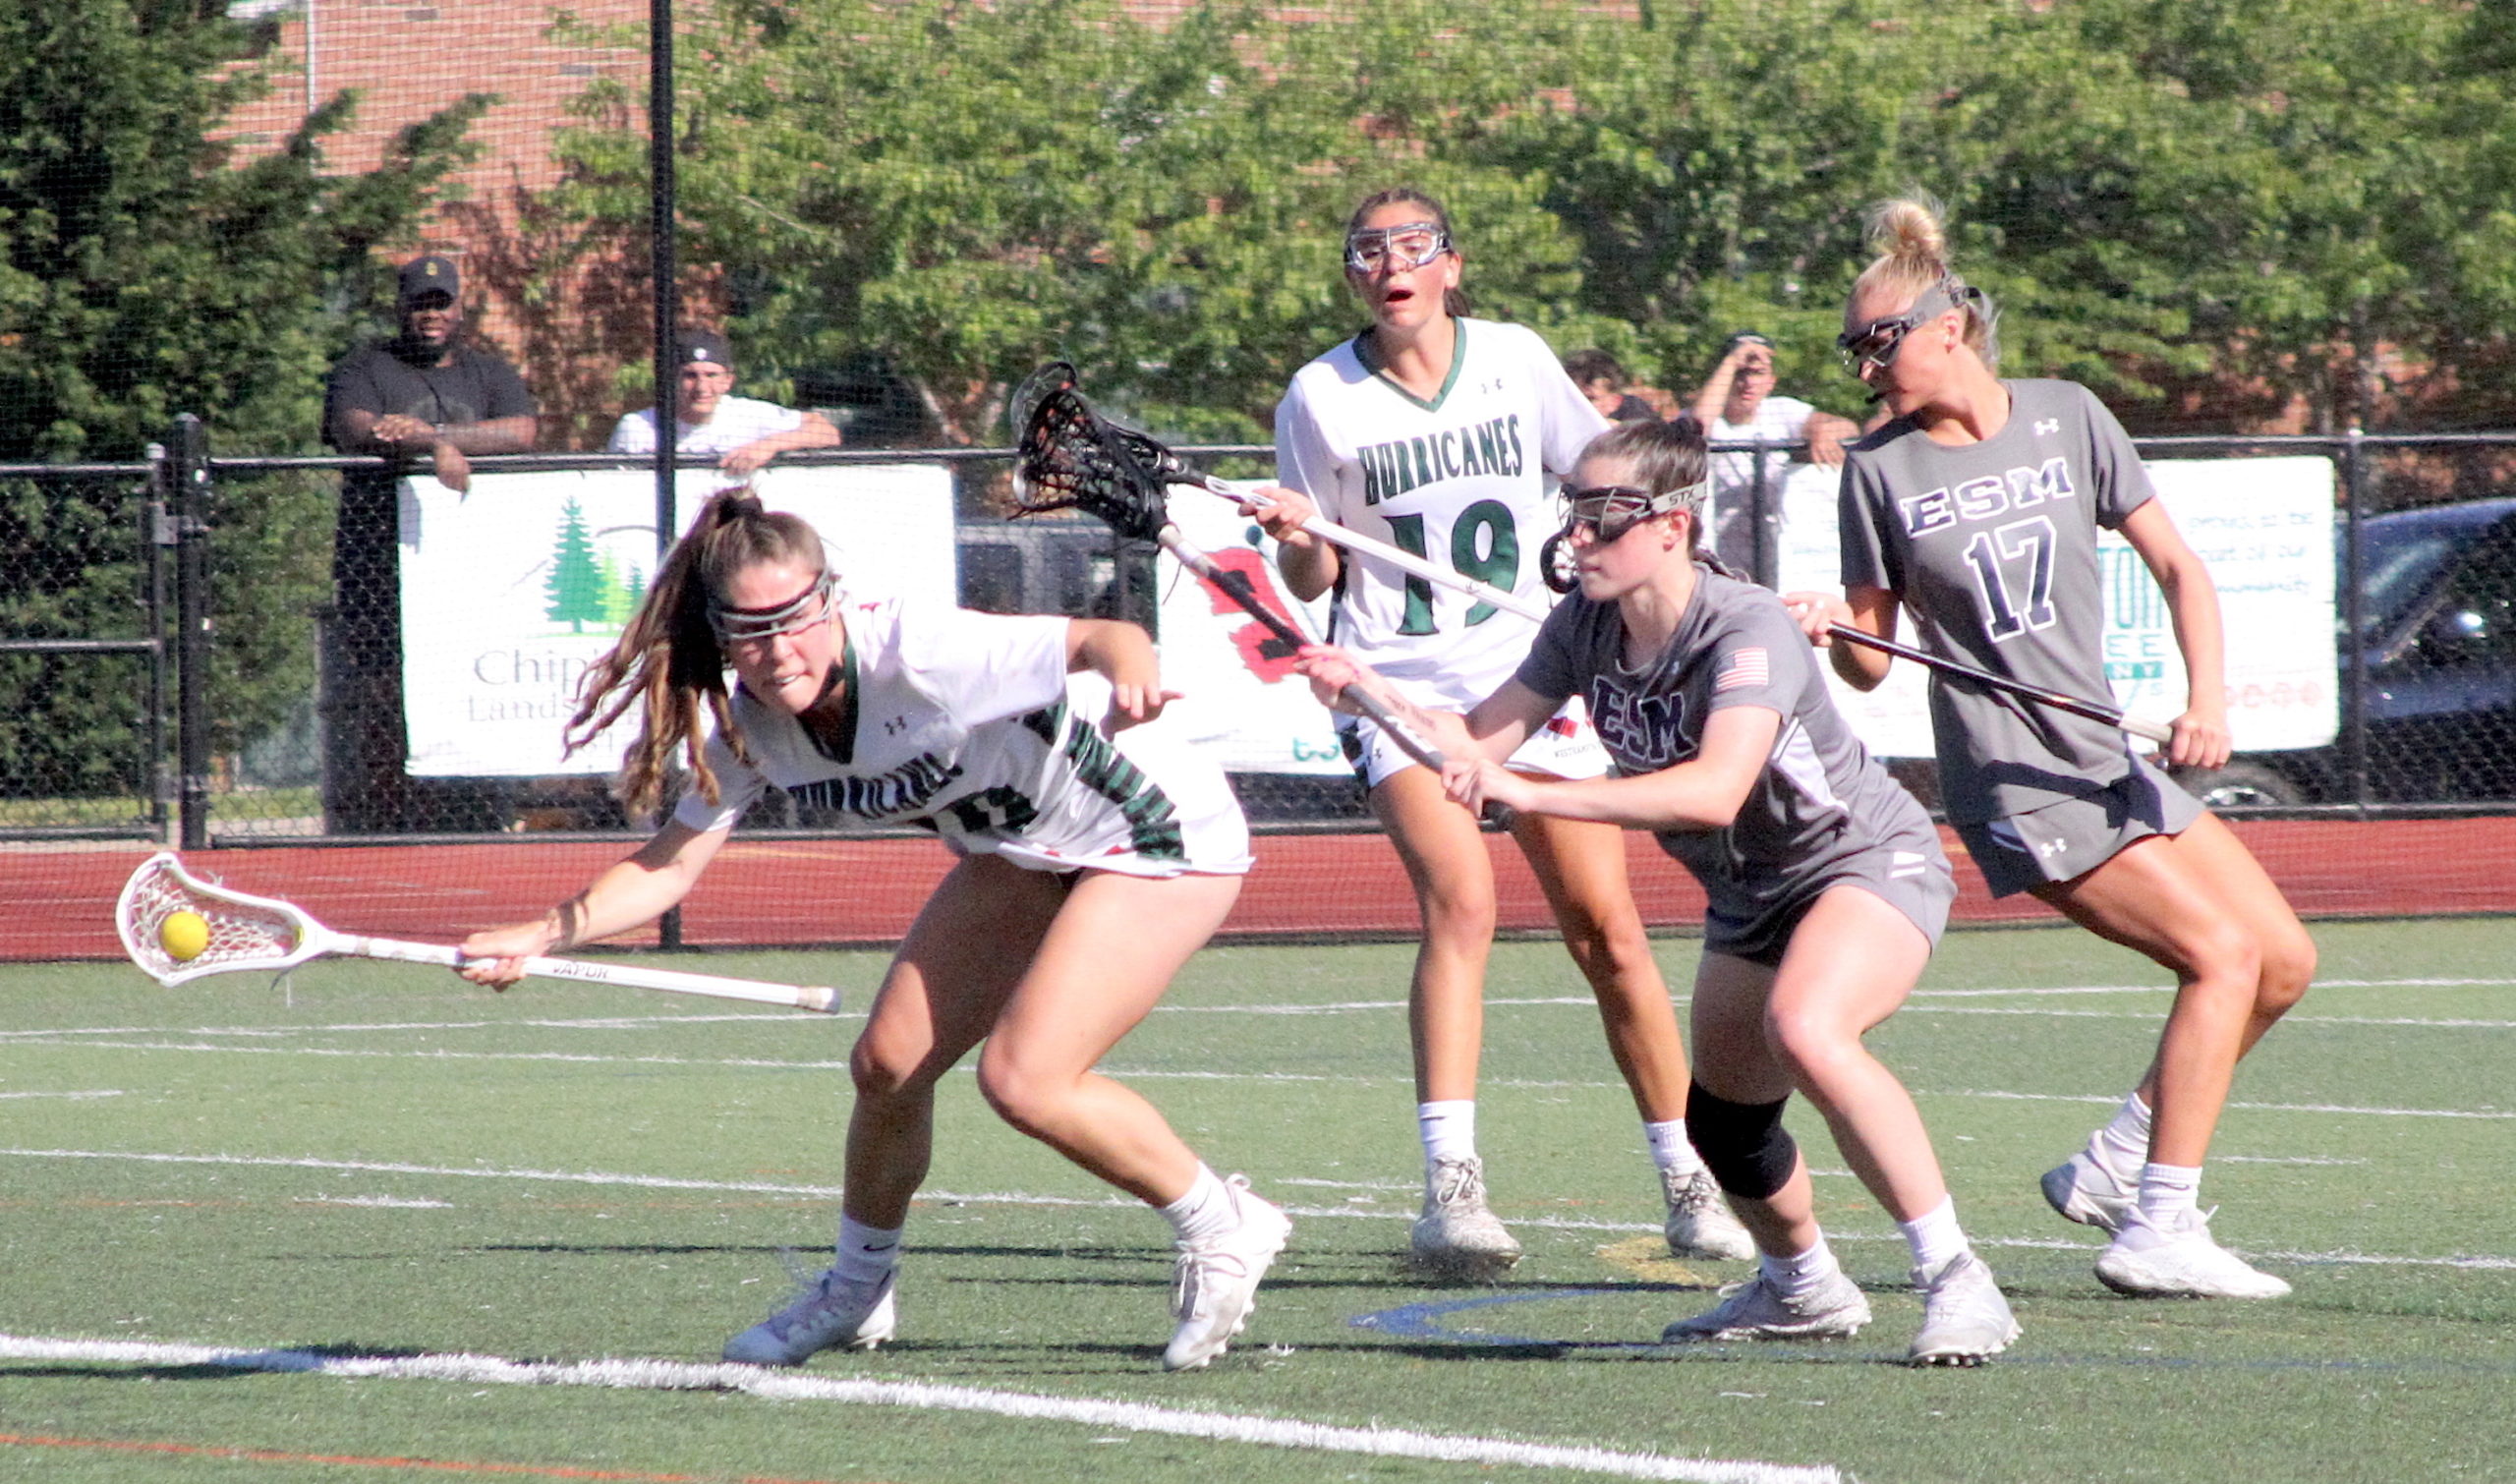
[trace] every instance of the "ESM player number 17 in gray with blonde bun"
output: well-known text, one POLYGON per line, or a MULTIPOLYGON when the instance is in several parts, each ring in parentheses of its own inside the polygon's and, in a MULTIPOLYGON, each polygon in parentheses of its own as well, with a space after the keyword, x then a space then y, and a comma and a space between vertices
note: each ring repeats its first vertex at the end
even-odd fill
MULTIPOLYGON (((1877 262, 1844 307, 1844 357, 1892 420, 1844 463, 1844 594, 1794 594, 1829 626, 1922 644, 1978 669, 2106 694, 2096 528, 2156 576, 2189 699, 2166 762, 2229 755, 2219 596, 2176 533, 2121 425, 2083 387, 2000 380, 1993 309, 1947 262, 1937 211, 1872 211, 1877 262)), ((1834 644, 1869 689, 1890 659, 1834 644)), ((2005 692, 1932 679, 1950 822, 1995 895, 2025 890, 2176 976, 2156 1056, 2086 1149, 2046 1172, 2063 1217, 2111 1232, 2096 1275, 2129 1295, 2277 1298, 2279 1278, 2219 1248, 2199 1207, 2202 1160, 2237 1059, 2307 991, 2315 941, 2237 835, 2124 734, 2005 692)))

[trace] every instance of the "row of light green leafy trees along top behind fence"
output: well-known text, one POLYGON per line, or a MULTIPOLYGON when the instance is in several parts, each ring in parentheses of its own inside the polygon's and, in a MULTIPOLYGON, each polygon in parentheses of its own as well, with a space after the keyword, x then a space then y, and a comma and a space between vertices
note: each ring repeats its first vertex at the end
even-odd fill
MULTIPOLYGON (((1248 433, 1356 324, 1351 201, 1444 194, 1469 289, 1691 390, 1721 337, 1834 370, 1862 209, 1945 204, 2005 367, 2340 425, 2503 420, 2503 0, 730 0, 684 48, 684 259, 755 357, 878 352, 959 438, 1047 357, 1170 430, 1248 433), (843 40, 840 40, 843 38, 843 40), (2390 380, 2388 380, 2390 377, 2390 380)), ((621 93, 571 209, 644 231, 621 93)))

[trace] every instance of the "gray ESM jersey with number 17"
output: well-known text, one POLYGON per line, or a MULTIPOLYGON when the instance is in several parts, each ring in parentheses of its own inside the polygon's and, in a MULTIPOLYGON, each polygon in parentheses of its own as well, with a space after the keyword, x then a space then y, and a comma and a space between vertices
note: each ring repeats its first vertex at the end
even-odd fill
MULTIPOLYGON (((2010 420, 1983 443, 1947 448, 1897 418, 1847 450, 1844 586, 1897 594, 1932 654, 2103 699, 2096 528, 2121 526, 2156 490, 2086 387, 2000 385, 2010 420)), ((2023 815, 2131 772, 2121 729, 1937 672, 1930 729, 1955 822, 2023 815)))

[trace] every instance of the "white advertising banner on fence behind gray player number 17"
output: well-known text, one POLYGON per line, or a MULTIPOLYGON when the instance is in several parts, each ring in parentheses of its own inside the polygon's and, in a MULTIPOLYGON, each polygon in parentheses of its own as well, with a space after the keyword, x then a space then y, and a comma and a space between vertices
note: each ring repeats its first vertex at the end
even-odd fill
MULTIPOLYGON (((2239 752, 2322 747, 2340 724, 2332 634, 2330 458, 2151 460, 2176 531, 2209 566, 2227 626, 2229 729, 2239 752)), ((1834 541, 1839 470, 1799 465, 1784 483, 1781 591, 1842 586, 1834 541)), ((2106 679, 2113 702, 2169 722, 2184 709, 2184 656, 2166 596, 2121 536, 2098 531, 2106 581, 2106 679)), ((1905 626, 1905 636, 1912 629, 1905 626)), ((1872 752, 1930 757, 1925 672, 1895 664, 1834 699, 1872 752)))

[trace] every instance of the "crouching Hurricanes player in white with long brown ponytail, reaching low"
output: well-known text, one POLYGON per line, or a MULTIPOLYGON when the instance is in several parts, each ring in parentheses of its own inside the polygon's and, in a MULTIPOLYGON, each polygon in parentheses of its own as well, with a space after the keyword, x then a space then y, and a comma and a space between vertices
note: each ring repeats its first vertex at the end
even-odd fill
POLYGON ((1170 1220, 1177 1331, 1162 1363, 1205 1366, 1240 1333, 1291 1222, 1094 1071, 1223 923, 1250 865, 1220 770, 1147 724, 1167 699, 1132 624, 850 601, 813 528, 745 490, 715 496, 662 561, 621 644, 589 674, 569 737, 584 745, 637 709, 624 802, 652 810, 677 752, 689 790, 637 855, 566 903, 473 933, 468 978, 513 983, 526 956, 657 918, 770 787, 868 822, 926 825, 961 855, 908 928, 850 1056, 835 1263, 735 1336, 727 1361, 800 1366, 891 1338, 933 1089, 979 1041, 979 1092, 1004 1122, 1170 1220), (715 717, 704 750, 702 709, 715 717))

